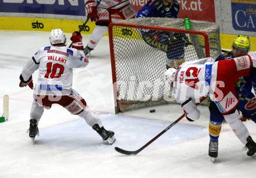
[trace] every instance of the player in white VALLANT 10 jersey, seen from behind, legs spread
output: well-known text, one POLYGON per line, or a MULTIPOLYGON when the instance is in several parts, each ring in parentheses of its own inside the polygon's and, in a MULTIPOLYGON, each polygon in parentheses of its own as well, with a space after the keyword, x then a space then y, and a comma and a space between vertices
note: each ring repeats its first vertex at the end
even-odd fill
POLYGON ((66 47, 66 36, 61 29, 51 31, 51 46, 42 47, 29 59, 20 74, 20 87, 34 90, 34 101, 30 112, 29 137, 34 141, 39 135, 38 122, 44 108, 58 104, 72 115, 85 119, 87 124, 109 144, 113 144, 113 131, 105 130, 101 120, 90 111, 86 101, 72 88, 73 68, 86 67, 88 58, 84 55, 81 34, 75 31, 70 38, 72 48, 66 47), (39 70, 38 80, 33 85, 32 74, 39 70))

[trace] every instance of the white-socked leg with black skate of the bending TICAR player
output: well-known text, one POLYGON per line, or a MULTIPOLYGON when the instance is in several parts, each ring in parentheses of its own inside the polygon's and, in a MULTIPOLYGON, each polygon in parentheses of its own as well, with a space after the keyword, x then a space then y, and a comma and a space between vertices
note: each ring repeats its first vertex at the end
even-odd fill
POLYGON ((234 134, 239 138, 241 143, 248 148, 247 155, 252 156, 256 152, 256 143, 251 138, 246 126, 239 119, 239 112, 237 110, 232 111, 228 115, 224 115, 227 123, 229 123, 234 134))

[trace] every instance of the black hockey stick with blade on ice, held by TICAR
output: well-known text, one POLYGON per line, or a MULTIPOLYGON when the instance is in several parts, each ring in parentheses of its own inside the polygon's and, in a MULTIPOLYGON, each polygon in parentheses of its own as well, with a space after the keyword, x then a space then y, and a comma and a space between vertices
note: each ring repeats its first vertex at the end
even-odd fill
MULTIPOLYGON (((200 102, 197 103, 196 105, 201 104, 202 101, 204 101, 205 97, 200 98, 200 102)), ((146 143, 145 145, 143 145, 143 147, 141 147, 140 149, 137 149, 136 151, 127 151, 125 149, 121 149, 119 147, 115 147, 115 150, 117 152, 120 152, 121 154, 125 154, 125 155, 137 155, 139 152, 141 152, 144 148, 146 148, 148 145, 150 145, 153 141, 157 140, 157 138, 159 138, 160 136, 162 136, 162 134, 164 134, 166 131, 168 131, 170 128, 172 128, 173 126, 175 126, 176 123, 178 123, 180 120, 182 120, 185 116, 185 113, 183 113, 182 116, 179 117, 179 119, 175 120, 175 122, 171 123, 168 127, 165 128, 165 130, 161 131, 161 133, 159 133, 157 136, 155 136, 154 138, 152 138, 150 141, 148 141, 148 143, 146 143)))

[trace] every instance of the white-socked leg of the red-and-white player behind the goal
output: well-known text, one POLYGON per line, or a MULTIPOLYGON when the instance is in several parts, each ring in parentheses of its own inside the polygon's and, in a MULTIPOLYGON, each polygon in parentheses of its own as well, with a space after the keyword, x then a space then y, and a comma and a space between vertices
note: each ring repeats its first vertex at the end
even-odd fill
POLYGON ((108 31, 108 24, 111 22, 111 16, 109 11, 103 8, 98 8, 98 16, 99 19, 96 21, 96 27, 91 33, 91 37, 88 41, 86 48, 84 48, 84 53, 87 55, 92 51, 104 37, 105 33, 108 31))

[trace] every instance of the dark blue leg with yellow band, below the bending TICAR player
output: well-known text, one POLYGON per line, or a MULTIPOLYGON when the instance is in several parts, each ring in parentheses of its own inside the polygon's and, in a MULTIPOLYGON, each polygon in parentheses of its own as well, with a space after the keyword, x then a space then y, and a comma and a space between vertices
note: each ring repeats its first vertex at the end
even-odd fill
POLYGON ((213 158, 218 157, 219 134, 221 133, 221 126, 224 120, 221 112, 214 102, 209 102, 210 120, 209 120, 209 156, 213 158))

